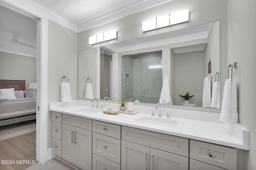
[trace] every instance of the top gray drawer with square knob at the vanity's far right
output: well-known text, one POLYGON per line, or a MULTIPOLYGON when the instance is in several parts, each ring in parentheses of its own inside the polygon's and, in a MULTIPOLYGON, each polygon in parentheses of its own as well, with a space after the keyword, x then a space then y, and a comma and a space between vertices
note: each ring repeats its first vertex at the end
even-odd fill
POLYGON ((236 170, 237 150, 211 143, 190 140, 190 158, 221 168, 236 170))

